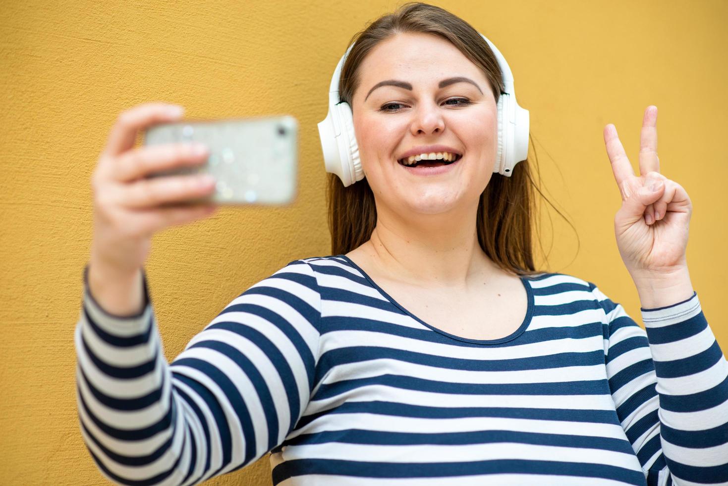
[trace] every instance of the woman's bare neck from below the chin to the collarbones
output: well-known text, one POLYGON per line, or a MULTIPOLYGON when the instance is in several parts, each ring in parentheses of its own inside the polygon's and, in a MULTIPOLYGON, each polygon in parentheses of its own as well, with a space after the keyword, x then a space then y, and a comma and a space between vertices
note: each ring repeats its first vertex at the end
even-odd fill
POLYGON ((496 272, 478 243, 477 211, 476 205, 457 215, 421 214, 413 220, 378 210, 376 227, 363 249, 392 280, 465 287, 470 279, 482 281, 496 272))

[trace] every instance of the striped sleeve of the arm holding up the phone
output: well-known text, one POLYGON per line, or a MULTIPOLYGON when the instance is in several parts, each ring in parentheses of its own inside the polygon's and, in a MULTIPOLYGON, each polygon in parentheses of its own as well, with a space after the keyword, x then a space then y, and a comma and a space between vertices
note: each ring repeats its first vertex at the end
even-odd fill
POLYGON ((308 404, 318 361, 320 291, 290 262, 236 297, 167 363, 149 299, 140 315, 84 296, 76 400, 96 466, 122 485, 194 485, 279 446, 308 404))

